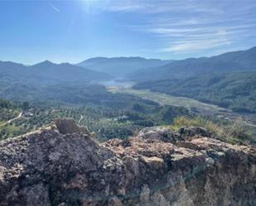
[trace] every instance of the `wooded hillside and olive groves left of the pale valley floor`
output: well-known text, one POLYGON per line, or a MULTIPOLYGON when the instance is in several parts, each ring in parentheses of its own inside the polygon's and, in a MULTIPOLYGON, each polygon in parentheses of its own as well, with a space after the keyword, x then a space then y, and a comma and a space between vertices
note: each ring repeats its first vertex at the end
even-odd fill
MULTIPOLYGON (((34 87, 13 84, 2 90, 0 96, 18 100, 19 103, 16 108, 2 108, 0 104, 0 114, 3 115, 0 117, 0 139, 31 132, 56 117, 75 118, 80 124, 86 124, 90 131, 96 132, 99 139, 106 139, 125 138, 142 127, 169 124, 176 117, 191 116, 186 108, 160 106, 131 94, 111 93, 101 85, 54 84, 34 87), (22 118, 12 124, 7 123, 21 112, 22 118)), ((2 103, 6 102, 13 103, 2 100, 2 103)))

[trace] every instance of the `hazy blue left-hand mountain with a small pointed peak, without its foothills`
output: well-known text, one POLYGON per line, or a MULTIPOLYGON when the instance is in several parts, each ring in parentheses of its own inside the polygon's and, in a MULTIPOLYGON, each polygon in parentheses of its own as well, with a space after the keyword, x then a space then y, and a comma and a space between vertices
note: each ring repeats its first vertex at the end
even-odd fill
POLYGON ((17 82, 31 84, 59 84, 60 82, 85 82, 109 80, 109 74, 85 69, 68 63, 54 64, 48 60, 25 66, 14 62, 0 61, 1 84, 17 82))

